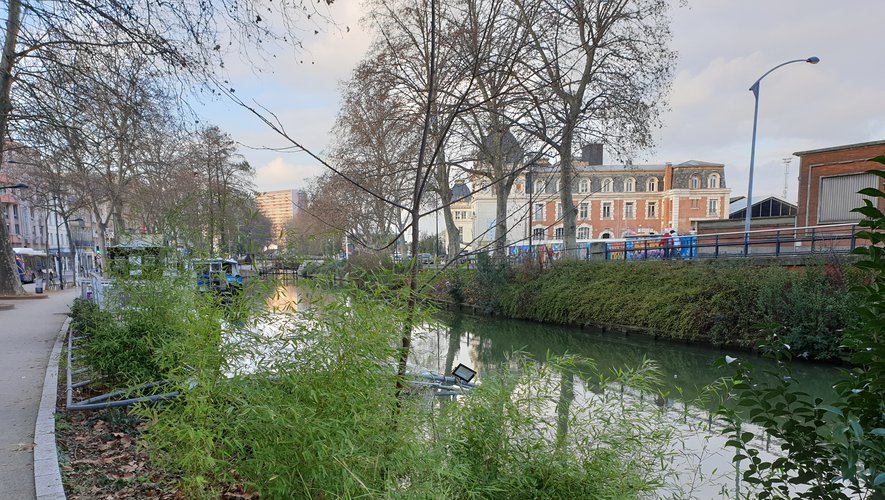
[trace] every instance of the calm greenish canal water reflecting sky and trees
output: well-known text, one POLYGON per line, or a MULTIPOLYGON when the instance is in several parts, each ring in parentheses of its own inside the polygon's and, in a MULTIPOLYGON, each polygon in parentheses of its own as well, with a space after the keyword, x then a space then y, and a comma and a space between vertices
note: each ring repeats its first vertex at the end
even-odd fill
MULTIPOLYGON (((268 305, 295 309, 298 290, 281 287, 268 305)), ((521 352, 540 363, 549 356, 577 355, 595 362, 597 372, 639 367, 643 360, 653 360, 662 381, 659 392, 627 391, 634 400, 647 401, 658 408, 674 429, 670 467, 674 473, 659 493, 679 498, 735 498, 752 495, 741 483, 740 463, 732 462, 734 450, 725 446, 727 437, 722 424, 711 415, 716 403, 699 400, 705 387, 728 373, 713 366, 725 355, 750 363, 757 370, 774 370, 776 363, 748 352, 720 350, 707 346, 655 340, 642 335, 625 335, 594 329, 564 327, 499 317, 472 316, 441 312, 419 329, 413 338, 410 363, 431 372, 450 374, 463 363, 478 372, 477 381, 497 371, 512 368, 510 359, 521 352)), ((820 363, 791 363, 792 377, 798 389, 829 402, 838 369, 820 363)), ((558 383, 568 383, 568 397, 573 407, 587 407, 596 388, 586 386, 578 377, 562 374, 558 383)), ((561 405, 557 405, 559 411, 561 405)), ((588 416, 592 418, 592 416, 588 416)), ((763 458, 778 454, 777 443, 767 439, 760 429, 747 426, 757 434, 750 445, 763 458)))

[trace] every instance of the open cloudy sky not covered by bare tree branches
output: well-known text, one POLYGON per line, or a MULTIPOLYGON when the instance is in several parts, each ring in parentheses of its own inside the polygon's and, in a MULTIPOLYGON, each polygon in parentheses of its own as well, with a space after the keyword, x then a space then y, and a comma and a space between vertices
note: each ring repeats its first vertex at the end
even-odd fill
MULTIPOLYGON (((754 198, 782 194, 783 159, 796 151, 885 140, 885 0, 680 3, 673 0, 671 8, 679 57, 669 111, 656 147, 634 163, 723 163, 732 196, 746 195, 753 123, 748 89, 772 67, 811 56, 820 63, 791 64, 762 81, 754 198)), ((338 0, 330 7, 337 28, 308 32, 304 51, 281 53, 272 71, 256 73, 234 61, 229 76, 237 95, 273 110, 292 137, 322 153, 338 110, 339 82, 368 47, 362 14, 360 2, 338 0)), ((259 191, 300 189, 323 171, 304 154, 260 149, 285 143, 231 103, 208 102, 196 111, 241 144, 259 191)), ((798 165, 792 157, 786 179, 787 199, 794 202, 798 165)))

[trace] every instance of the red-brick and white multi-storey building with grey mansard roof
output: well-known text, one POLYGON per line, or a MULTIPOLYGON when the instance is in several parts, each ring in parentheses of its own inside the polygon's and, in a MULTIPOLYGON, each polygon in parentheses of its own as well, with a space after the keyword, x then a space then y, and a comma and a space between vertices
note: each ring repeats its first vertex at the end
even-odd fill
MULTIPOLYGON (((576 162, 572 190, 577 240, 622 238, 639 234, 697 231, 698 223, 728 217, 730 190, 721 163, 686 161, 676 165, 603 165, 601 150, 585 148, 576 162)), ((478 186, 469 202, 452 209, 462 241, 480 249, 494 239, 495 188, 478 186), (472 238, 468 238, 471 235, 472 238)), ((508 244, 557 244, 563 241, 559 166, 538 162, 518 176, 507 208, 508 244)))

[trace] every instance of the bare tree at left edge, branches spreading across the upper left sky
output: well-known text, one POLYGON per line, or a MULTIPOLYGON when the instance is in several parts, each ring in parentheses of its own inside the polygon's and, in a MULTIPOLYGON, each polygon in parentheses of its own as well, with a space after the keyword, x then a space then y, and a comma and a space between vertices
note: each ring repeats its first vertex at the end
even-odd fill
MULTIPOLYGON (((230 89, 216 73, 224 57, 276 42, 298 46, 298 24, 311 15, 306 22, 324 22, 325 13, 317 11, 324 5, 262 0, 34 0, 23 6, 21 0, 7 0, 0 55, 0 139, 6 139, 13 118, 13 82, 15 88, 44 83, 41 72, 29 70, 28 61, 54 66, 58 62, 50 53, 115 48, 147 57, 181 88, 226 94, 230 89)), ((2 154, 0 150, 0 164, 2 154)), ((0 214, 0 293, 23 293, 7 233, 0 214)))

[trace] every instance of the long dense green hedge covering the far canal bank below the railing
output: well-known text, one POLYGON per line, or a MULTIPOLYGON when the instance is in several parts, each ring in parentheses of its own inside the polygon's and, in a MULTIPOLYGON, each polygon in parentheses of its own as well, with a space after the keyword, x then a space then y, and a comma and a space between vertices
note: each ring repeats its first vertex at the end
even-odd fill
POLYGON ((799 269, 746 262, 557 262, 550 269, 480 261, 440 277, 441 297, 511 318, 649 328, 678 340, 757 348, 779 331, 794 353, 839 355, 862 275, 835 259, 799 269), (762 326, 765 328, 762 328, 762 326))

